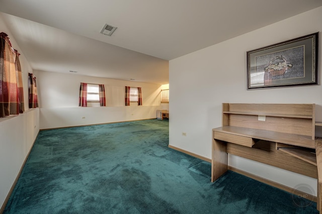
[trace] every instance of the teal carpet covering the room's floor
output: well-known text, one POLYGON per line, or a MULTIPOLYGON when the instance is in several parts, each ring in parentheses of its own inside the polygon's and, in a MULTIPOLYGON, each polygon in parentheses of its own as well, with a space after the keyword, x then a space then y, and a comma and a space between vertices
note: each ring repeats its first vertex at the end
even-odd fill
POLYGON ((159 120, 40 131, 4 213, 318 213, 168 144, 159 120))

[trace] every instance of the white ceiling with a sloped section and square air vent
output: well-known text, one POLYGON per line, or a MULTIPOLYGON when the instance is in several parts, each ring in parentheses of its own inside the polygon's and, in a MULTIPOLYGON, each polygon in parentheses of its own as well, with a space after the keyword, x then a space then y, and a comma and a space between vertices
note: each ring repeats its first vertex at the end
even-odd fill
POLYGON ((169 60, 321 6, 322 0, 0 0, 0 18, 34 70, 166 84, 169 60), (105 24, 117 27, 112 36, 100 33, 105 24))

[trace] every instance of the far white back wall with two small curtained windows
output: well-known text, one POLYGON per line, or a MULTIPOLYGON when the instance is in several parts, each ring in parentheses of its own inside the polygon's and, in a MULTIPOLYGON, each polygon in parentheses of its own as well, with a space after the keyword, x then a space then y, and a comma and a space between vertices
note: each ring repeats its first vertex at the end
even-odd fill
POLYGON ((74 73, 34 71, 40 106, 40 129, 156 118, 162 85, 90 77, 74 73), (104 84, 106 105, 78 107, 81 82, 104 84), (124 104, 125 86, 142 88, 142 105, 124 104))

